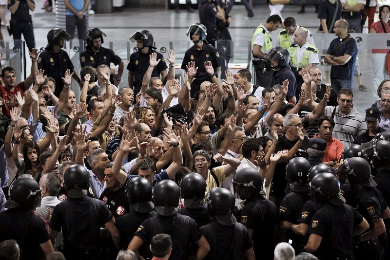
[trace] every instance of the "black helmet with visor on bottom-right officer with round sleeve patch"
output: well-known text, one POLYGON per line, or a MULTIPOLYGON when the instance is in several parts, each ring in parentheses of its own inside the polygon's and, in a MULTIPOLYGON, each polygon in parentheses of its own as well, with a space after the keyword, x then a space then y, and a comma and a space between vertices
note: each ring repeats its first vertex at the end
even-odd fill
POLYGON ((370 164, 364 158, 352 157, 345 159, 337 170, 347 173, 348 181, 352 186, 359 183, 368 187, 376 186, 372 179, 370 164))

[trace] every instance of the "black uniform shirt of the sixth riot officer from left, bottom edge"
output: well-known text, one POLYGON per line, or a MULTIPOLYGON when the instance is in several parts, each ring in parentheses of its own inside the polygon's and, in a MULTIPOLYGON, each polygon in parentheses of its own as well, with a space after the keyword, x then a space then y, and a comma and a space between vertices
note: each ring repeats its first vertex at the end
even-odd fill
POLYGON ((210 252, 206 260, 236 260, 242 259, 246 250, 253 247, 247 228, 241 223, 226 226, 215 219, 200 228, 210 244, 210 252))

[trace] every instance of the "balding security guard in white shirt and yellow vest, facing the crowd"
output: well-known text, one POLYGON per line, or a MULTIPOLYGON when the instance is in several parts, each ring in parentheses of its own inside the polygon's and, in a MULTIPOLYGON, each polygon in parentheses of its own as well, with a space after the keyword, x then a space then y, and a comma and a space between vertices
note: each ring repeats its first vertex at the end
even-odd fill
POLYGON ((294 44, 288 48, 291 70, 296 79, 295 97, 297 99, 304 83, 299 71, 302 68, 309 69, 319 63, 318 49, 307 42, 307 37, 308 32, 305 29, 297 28, 293 36, 294 44))

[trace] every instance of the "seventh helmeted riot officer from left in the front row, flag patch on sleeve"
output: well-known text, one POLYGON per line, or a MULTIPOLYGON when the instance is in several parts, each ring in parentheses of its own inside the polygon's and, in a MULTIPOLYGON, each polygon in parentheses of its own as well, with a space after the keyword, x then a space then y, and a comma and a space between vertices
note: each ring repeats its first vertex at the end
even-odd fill
POLYGON ((234 174, 234 196, 245 200, 240 222, 248 228, 252 237, 254 255, 256 259, 272 259, 277 208, 273 202, 260 195, 262 186, 263 179, 254 168, 243 168, 234 174))

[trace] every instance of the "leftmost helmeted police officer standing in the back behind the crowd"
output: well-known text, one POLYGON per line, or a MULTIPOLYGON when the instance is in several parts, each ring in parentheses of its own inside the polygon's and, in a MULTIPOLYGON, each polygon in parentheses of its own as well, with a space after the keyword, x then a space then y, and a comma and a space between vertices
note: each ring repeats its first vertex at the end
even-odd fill
POLYGON ((70 35, 64 29, 51 29, 47 34, 46 49, 38 58, 38 69, 44 70, 45 75, 56 80, 56 90, 54 91, 56 96, 59 96, 64 87, 62 77, 66 70, 73 72, 73 78, 77 80, 78 84, 81 82, 78 74, 74 71, 73 63, 68 54, 61 49, 64 42, 69 39, 70 35))

